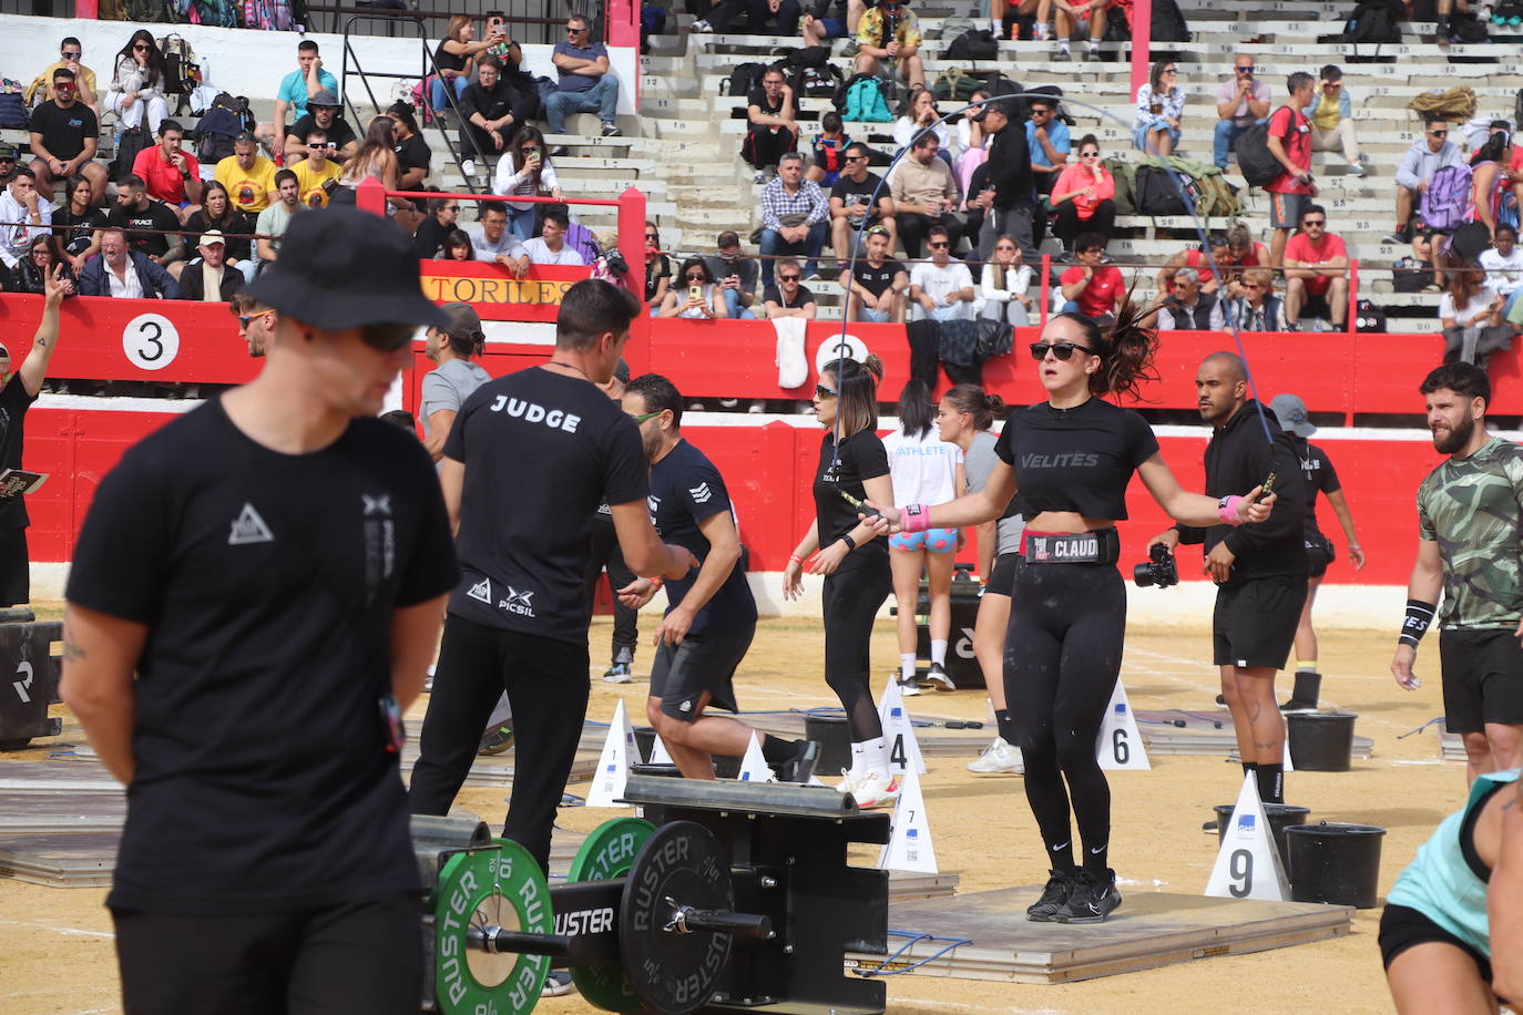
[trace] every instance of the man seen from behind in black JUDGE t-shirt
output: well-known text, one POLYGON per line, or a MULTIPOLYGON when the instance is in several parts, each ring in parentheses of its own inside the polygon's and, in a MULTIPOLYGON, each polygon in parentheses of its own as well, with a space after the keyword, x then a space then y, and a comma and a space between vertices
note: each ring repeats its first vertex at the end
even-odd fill
POLYGON ((582 574, 592 513, 612 505, 635 574, 679 578, 694 563, 650 528, 640 431, 597 388, 638 313, 634 297, 606 282, 571 286, 550 362, 477 388, 439 470, 465 577, 449 598, 410 802, 414 814, 449 811, 492 705, 507 691, 525 764, 513 776, 503 835, 542 867, 586 718, 582 574))

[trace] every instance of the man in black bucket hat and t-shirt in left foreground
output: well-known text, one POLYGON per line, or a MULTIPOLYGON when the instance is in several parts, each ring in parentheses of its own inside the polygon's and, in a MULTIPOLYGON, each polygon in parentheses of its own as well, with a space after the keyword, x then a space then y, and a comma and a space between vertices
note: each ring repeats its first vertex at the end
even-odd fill
POLYGON ((445 315, 353 208, 294 221, 248 297, 259 376, 128 449, 65 593, 61 692, 129 785, 123 1007, 411 1015, 401 714, 458 568, 428 455, 373 417, 445 315))

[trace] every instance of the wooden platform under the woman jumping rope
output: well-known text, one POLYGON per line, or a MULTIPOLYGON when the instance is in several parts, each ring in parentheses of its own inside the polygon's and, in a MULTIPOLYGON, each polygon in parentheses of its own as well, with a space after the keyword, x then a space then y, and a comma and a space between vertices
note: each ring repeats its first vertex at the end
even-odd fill
MULTIPOLYGON (((1193 959, 1323 940, 1349 933, 1354 916, 1348 905, 1122 890, 1121 908, 1104 924, 1066 927, 1027 919, 1025 907, 1040 893, 1040 886, 1031 886, 892 902, 888 925, 940 937, 972 939, 970 943, 909 971, 912 975, 1068 983, 1193 959)), ((903 939, 897 940, 903 943, 903 939)), ((917 942, 886 968, 906 969, 947 943, 917 942)), ((889 937, 889 951, 897 947, 896 937, 889 937)), ((847 956, 847 966, 856 969, 871 969, 882 962, 877 956, 847 956)))

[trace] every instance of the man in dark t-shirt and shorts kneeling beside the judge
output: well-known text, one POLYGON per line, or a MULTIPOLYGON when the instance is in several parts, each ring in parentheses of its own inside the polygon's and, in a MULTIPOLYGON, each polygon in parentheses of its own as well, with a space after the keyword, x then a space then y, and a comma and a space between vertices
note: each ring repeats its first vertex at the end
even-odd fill
MULTIPOLYGON (((650 522, 661 539, 685 546, 699 562, 696 574, 666 584, 669 606, 656 628, 646 715, 688 779, 713 779, 713 755, 739 758, 755 735, 784 782, 806 782, 818 744, 769 737, 705 712, 710 703, 736 711, 731 679, 757 630, 740 530, 719 470, 682 440, 676 387, 659 374, 635 377, 623 405, 650 458, 650 522)), ((620 589, 620 598, 640 607, 658 587, 659 581, 640 578, 620 589)))

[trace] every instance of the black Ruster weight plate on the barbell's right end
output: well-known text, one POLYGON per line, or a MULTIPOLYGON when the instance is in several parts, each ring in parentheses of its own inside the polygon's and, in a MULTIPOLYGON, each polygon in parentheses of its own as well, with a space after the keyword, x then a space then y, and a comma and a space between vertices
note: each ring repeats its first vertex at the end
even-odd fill
POLYGON ((714 834, 694 822, 663 825, 646 842, 624 883, 618 945, 624 974, 652 1012, 687 1015, 702 1007, 730 965, 728 933, 667 930, 672 902, 734 912, 730 858, 714 834))

